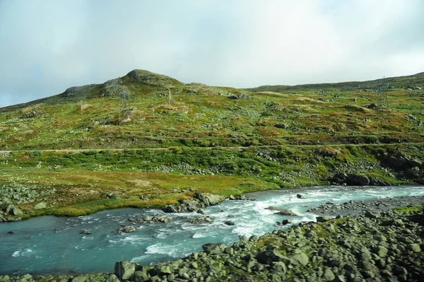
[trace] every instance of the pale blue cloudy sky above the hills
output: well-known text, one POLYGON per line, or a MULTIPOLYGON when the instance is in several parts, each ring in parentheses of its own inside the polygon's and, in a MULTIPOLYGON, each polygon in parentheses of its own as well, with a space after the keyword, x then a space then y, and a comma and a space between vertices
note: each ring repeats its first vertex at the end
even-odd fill
POLYGON ((0 107, 147 69, 249 88, 424 71, 423 0, 0 0, 0 107))

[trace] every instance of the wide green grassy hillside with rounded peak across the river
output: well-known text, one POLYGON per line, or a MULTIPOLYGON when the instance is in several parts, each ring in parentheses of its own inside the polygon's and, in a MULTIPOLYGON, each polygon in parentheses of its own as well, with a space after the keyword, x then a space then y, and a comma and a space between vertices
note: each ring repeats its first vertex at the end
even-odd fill
MULTIPOLYGON (((53 207, 33 214, 76 215, 173 203, 192 192, 172 187, 194 187, 194 182, 201 191, 226 196, 276 185, 328 184, 336 172, 411 183, 415 180, 408 175, 382 168, 381 155, 399 151, 424 157, 424 127, 417 126, 424 122, 424 90, 404 89, 422 81, 422 74, 387 79, 396 87, 387 91, 387 110, 366 107, 379 101, 377 93, 361 92, 377 85, 372 81, 361 88, 339 83, 251 93, 140 75, 124 76, 117 86, 67 90, 0 109, 0 149, 35 150, 1 154, 0 182, 33 183, 37 189, 48 183, 58 191, 46 199, 53 207), (172 102, 168 86, 173 86, 172 102), (121 89, 131 94, 126 107, 117 95, 121 89), (232 99, 240 94, 250 98, 232 99), (174 148, 151 150, 169 147, 174 148), (127 150, 38 151, 79 148, 127 150), (122 199, 102 199, 111 191, 122 199)), ((42 201, 36 200, 20 208, 31 213, 42 201)))

